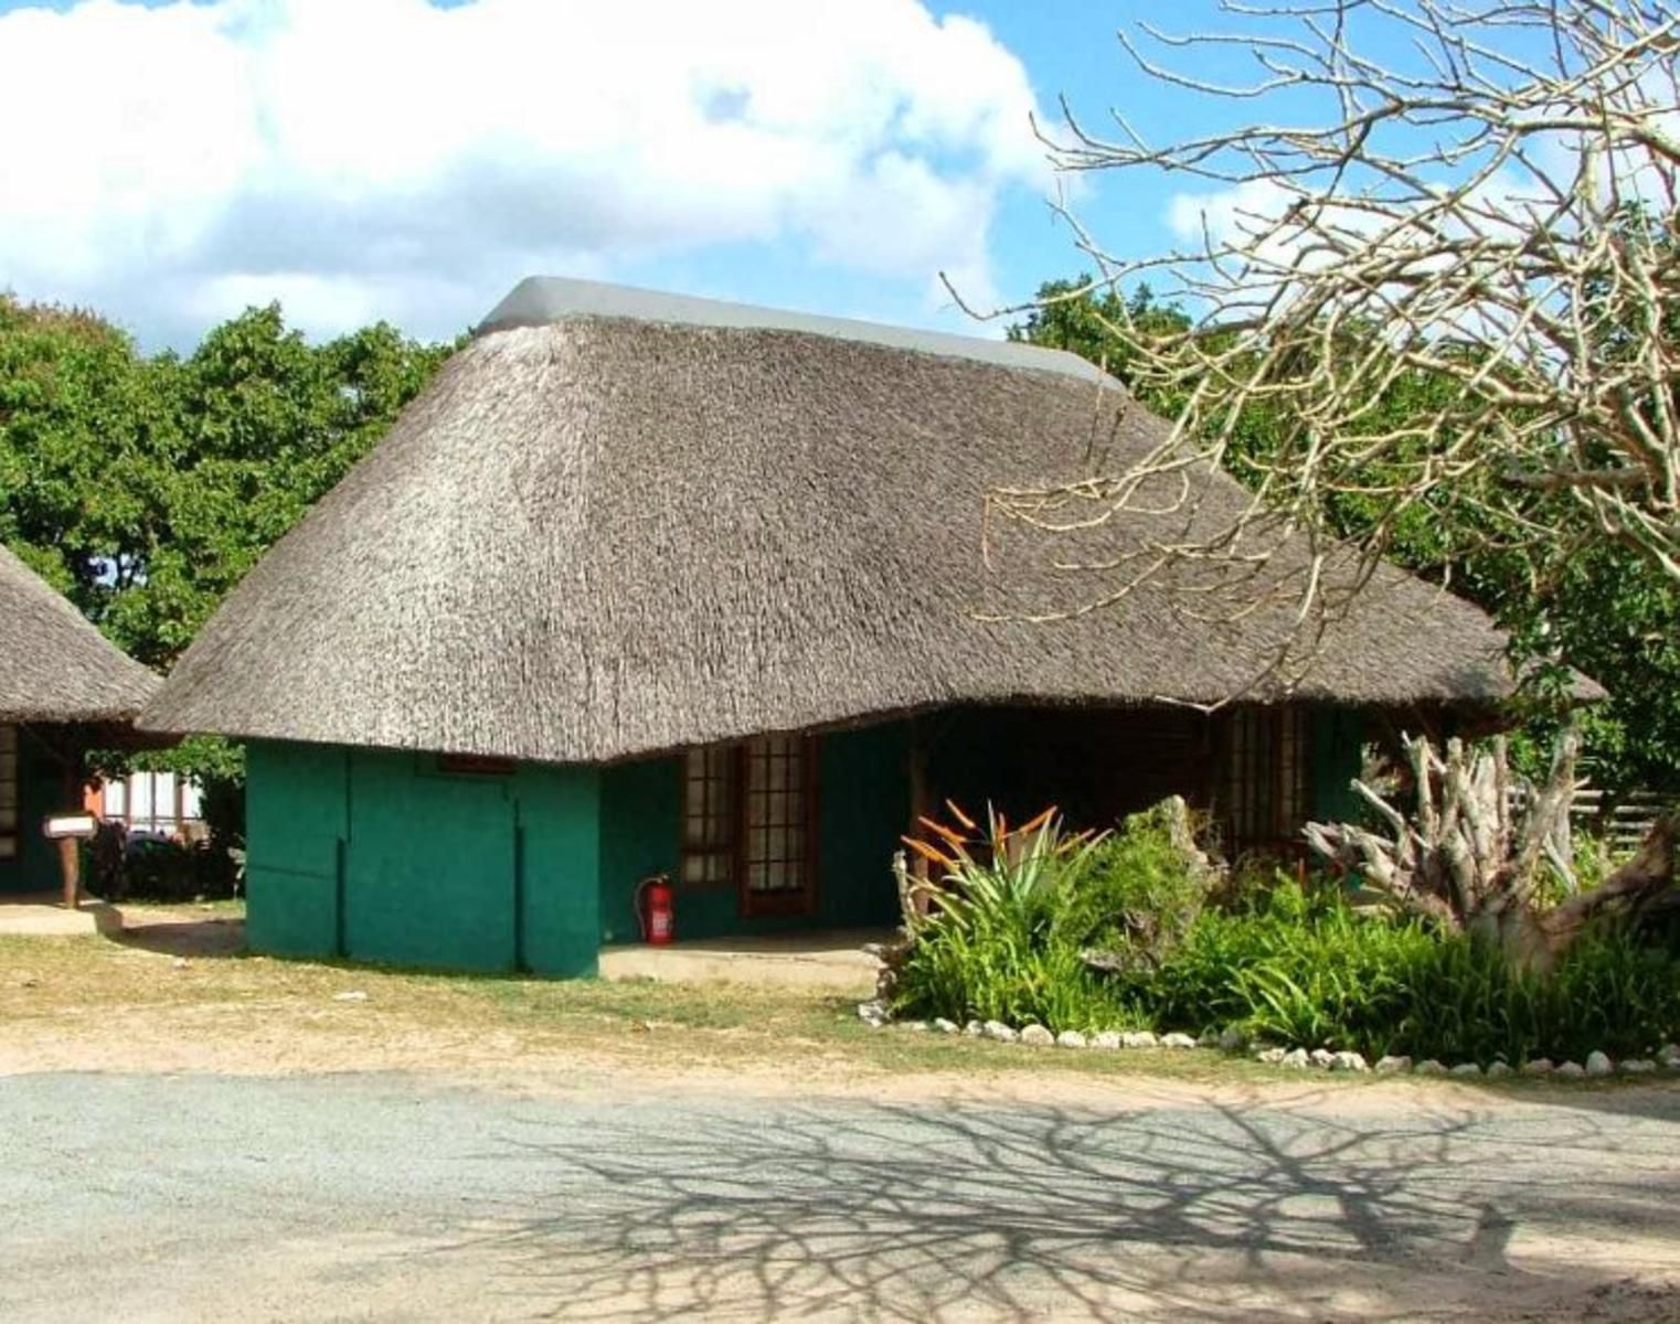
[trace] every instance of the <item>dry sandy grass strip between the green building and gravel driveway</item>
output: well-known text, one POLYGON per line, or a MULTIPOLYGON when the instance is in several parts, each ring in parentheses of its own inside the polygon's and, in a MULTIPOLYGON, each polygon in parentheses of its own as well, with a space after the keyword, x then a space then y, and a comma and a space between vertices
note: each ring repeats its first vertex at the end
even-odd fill
POLYGON ((1315 1090, 1369 1082, 1205 1050, 1080 1052, 870 1030, 852 1000, 805 990, 282 961, 232 949, 237 911, 227 906, 124 912, 133 927, 121 941, 0 938, 0 1074, 418 1070, 564 1087, 633 1072, 788 1092, 1015 1080, 1035 1094, 1100 1090, 1122 1077, 1315 1090))

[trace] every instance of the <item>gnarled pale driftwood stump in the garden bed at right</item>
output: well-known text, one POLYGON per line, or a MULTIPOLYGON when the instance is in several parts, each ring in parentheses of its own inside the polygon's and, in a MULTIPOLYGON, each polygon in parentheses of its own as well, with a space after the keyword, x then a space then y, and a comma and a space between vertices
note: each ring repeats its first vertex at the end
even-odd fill
POLYGON ((1606 909, 1662 904, 1675 882, 1680 815, 1655 823, 1638 854, 1599 887, 1578 887, 1569 850, 1569 801, 1579 738, 1564 733, 1537 788, 1514 785, 1504 739, 1487 749, 1448 741, 1445 758, 1426 739, 1403 741, 1416 810, 1408 817, 1364 781, 1352 788, 1389 835, 1352 823, 1309 823, 1307 843, 1369 892, 1455 931, 1482 933, 1524 964, 1546 966, 1606 909), (1569 896, 1541 907, 1547 879, 1569 896))

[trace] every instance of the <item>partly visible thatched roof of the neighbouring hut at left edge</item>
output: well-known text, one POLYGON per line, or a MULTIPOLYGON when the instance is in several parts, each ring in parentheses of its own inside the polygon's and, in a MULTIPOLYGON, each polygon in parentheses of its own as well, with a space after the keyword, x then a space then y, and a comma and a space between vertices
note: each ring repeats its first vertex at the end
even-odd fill
POLYGON ((158 677, 0 546, 0 722, 124 722, 158 677))

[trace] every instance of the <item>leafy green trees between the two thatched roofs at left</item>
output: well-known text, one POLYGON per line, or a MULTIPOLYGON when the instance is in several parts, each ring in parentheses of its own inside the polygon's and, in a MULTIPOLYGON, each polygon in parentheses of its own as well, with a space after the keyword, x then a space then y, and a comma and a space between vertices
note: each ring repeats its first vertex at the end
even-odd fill
MULTIPOLYGON (((452 349, 383 323, 311 344, 270 304, 148 358, 92 313, 0 294, 0 541, 165 669, 452 349)), ((242 837, 237 744, 94 766, 193 773, 215 840, 242 837)))

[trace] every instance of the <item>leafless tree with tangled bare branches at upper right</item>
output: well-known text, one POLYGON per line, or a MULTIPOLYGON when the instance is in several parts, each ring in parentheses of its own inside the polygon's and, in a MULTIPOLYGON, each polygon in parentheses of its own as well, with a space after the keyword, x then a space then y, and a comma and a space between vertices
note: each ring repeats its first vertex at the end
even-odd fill
POLYGON ((1142 25, 1121 42, 1156 82, 1304 119, 1158 146, 1121 113, 1099 134, 1063 108, 1065 131, 1047 133, 1062 171, 1164 171, 1211 190, 1196 242, 1144 257, 1110 252, 1062 208, 1099 272, 1063 297, 1147 279, 1189 314, 1163 333, 1127 304, 1112 324, 1139 393, 1176 407, 1171 437, 1124 469, 1000 489, 988 518, 1089 529, 1176 492, 1184 536, 1110 565, 1104 602, 1194 563, 1294 595, 1304 623, 1336 610, 1332 585, 1364 583, 1327 573, 1347 551, 1319 536, 1337 496, 1376 511, 1362 561, 1410 509, 1450 496, 1477 538, 1539 561, 1614 539, 1680 581, 1680 12, 1641 0, 1221 10, 1257 30, 1142 25), (1378 45, 1393 54, 1376 59, 1378 45), (1253 52, 1252 82, 1183 72, 1231 47, 1253 52), (1435 383, 1428 407, 1383 410, 1408 376, 1435 383), (1255 412, 1268 445, 1236 457, 1255 412), (1231 467, 1250 479, 1247 511, 1189 518, 1206 475, 1231 467), (1292 570, 1260 573, 1290 539, 1292 570))

